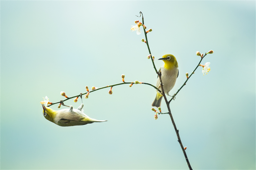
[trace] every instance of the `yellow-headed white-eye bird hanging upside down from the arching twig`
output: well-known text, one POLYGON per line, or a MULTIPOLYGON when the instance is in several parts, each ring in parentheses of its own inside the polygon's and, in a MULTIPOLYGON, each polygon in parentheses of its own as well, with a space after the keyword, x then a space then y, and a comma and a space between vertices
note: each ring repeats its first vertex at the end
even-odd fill
POLYGON ((69 109, 52 110, 50 107, 43 106, 43 115, 45 119, 59 126, 78 126, 93 122, 106 122, 92 119, 84 114, 84 104, 82 103, 77 109, 70 106, 69 109))

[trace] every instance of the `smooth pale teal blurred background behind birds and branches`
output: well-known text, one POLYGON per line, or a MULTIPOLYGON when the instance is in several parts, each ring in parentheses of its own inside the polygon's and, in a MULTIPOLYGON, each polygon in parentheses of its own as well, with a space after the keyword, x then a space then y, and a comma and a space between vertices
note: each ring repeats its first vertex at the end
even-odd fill
POLYGON ((1 1, 0 169, 188 169, 169 115, 154 120, 151 86, 83 98, 85 114, 108 122, 60 127, 42 114, 42 97, 64 100, 60 91, 78 95, 121 74, 156 84, 144 34, 130 30, 140 11, 152 55, 179 63, 170 94, 196 51, 214 50, 202 62, 209 74, 196 70, 171 102, 192 168, 256 168, 255 1, 1 1))

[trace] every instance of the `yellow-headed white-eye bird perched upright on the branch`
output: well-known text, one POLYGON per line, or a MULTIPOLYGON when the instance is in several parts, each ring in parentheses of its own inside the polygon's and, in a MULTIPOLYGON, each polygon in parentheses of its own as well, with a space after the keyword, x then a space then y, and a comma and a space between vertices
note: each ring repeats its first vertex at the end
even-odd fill
MULTIPOLYGON (((168 96, 170 90, 172 90, 173 86, 175 85, 176 79, 179 76, 179 69, 178 69, 178 62, 176 58, 171 54, 166 54, 162 58, 159 58, 158 60, 163 60, 164 65, 160 68, 162 72, 162 81, 164 85, 164 93, 166 93, 168 96)), ((159 87, 160 85, 160 79, 157 76, 157 82, 156 87, 159 87)), ((160 87, 159 90, 162 91, 162 88, 160 87)), ((161 105, 163 95, 157 91, 156 93, 156 99, 153 101, 152 106, 159 107, 161 105)), ((174 98, 174 96, 171 96, 174 98)))

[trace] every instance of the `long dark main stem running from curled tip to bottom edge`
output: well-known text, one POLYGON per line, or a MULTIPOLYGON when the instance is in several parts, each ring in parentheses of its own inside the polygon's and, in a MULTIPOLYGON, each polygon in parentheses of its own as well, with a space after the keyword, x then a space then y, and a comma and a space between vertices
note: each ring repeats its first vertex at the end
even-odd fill
MULTIPOLYGON (((141 15, 142 15, 142 24, 144 25, 143 14, 142 14, 142 12, 140 12, 140 13, 141 13, 141 15)), ((180 147, 181 147, 181 149, 182 149, 182 151, 183 151, 183 154, 184 154, 185 159, 186 159, 186 161, 187 161, 188 167, 189 167, 190 170, 192 170, 192 167, 191 167, 191 165, 190 165, 190 163, 189 163, 189 161, 188 161, 188 156, 187 156, 186 151, 185 151, 185 149, 184 149, 184 147, 183 147, 183 144, 182 144, 182 142, 181 142, 181 140, 180 140, 179 130, 177 129, 176 124, 175 124, 175 122, 174 122, 174 119, 173 119, 173 117, 172 117, 172 113, 171 113, 171 109, 170 109, 170 102, 167 100, 167 98, 166 98, 166 96, 165 96, 165 94, 164 94, 164 87, 163 87, 164 85, 163 85, 163 81, 162 81, 161 70, 160 70, 159 72, 157 72, 157 70, 156 70, 156 66, 155 66, 155 63, 154 63, 154 61, 153 61, 153 58, 152 58, 152 55, 151 55, 151 52, 150 52, 150 49, 149 49, 149 45, 148 45, 147 33, 146 33, 146 30, 144 29, 144 27, 143 27, 143 30, 144 30, 144 34, 145 34, 145 38, 146 38, 146 43, 147 43, 147 46, 148 46, 148 52, 149 52, 150 57, 151 57, 151 61, 152 61, 152 63, 153 63, 153 66, 154 66, 154 69, 155 69, 155 71, 156 71, 156 74, 158 75, 158 77, 159 77, 159 79, 160 79, 160 85, 161 85, 161 89, 162 89, 162 95, 163 95, 163 97, 164 97, 166 106, 167 106, 167 108, 168 108, 168 114, 169 114, 170 117, 171 117, 172 125, 173 125, 173 127, 174 127, 174 129, 175 129, 176 135, 177 135, 177 137, 178 137, 178 142, 180 143, 180 147)))

